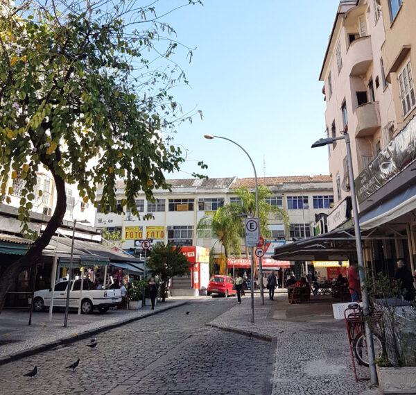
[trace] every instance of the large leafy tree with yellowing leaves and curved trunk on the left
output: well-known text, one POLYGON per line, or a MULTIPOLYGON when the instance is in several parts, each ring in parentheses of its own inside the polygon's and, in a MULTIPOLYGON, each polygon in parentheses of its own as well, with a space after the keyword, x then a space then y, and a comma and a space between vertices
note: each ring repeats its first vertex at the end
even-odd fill
POLYGON ((0 2, 0 197, 10 203, 10 179, 23 181, 19 220, 26 235, 42 167, 53 176, 57 203, 42 235, 32 235, 28 253, 1 276, 0 311, 12 281, 40 261, 62 223, 67 183, 95 205, 103 184, 101 211, 116 212, 115 183, 122 180, 122 205, 139 217, 135 194, 143 190, 152 201, 153 189, 168 189, 164 173, 184 161, 180 149, 165 146, 161 131, 174 131, 183 119, 170 90, 187 80, 171 60, 175 31, 153 6, 139 0, 12 3, 0 2))

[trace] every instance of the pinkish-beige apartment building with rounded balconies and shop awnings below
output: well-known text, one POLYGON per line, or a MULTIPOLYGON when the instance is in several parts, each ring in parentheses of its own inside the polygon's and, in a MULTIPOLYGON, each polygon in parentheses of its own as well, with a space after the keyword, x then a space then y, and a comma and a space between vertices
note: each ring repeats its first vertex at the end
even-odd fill
MULTIPOLYGON (((327 135, 349 133, 355 178, 348 174, 345 142, 333 142, 336 208, 329 219, 354 182, 365 261, 390 276, 399 257, 415 269, 415 18, 415 1, 340 1, 319 78, 327 135)), ((350 224, 350 215, 347 210, 338 226, 350 224)))

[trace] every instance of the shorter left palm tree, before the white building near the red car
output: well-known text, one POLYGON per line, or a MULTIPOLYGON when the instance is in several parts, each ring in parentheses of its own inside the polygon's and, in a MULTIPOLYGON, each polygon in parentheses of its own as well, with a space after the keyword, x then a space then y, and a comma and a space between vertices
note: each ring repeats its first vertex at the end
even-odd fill
MULTIPOLYGON (((216 238, 223 244, 226 262, 229 253, 241 256, 240 239, 243 234, 243 226, 237 215, 241 213, 241 206, 230 203, 218 208, 214 215, 205 215, 198 222, 197 229, 211 229, 216 238)), ((227 265, 222 265, 220 271, 227 274, 227 265)))

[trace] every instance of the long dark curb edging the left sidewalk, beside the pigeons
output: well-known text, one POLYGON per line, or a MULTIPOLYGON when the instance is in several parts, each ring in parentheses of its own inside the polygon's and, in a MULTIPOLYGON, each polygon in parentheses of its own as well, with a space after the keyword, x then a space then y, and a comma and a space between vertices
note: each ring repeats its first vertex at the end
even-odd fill
POLYGON ((35 355, 37 353, 43 353, 44 351, 48 351, 51 348, 55 348, 57 346, 62 346, 64 344, 71 344, 71 343, 78 342, 79 340, 82 340, 82 339, 87 339, 88 337, 92 337, 93 335, 97 335, 98 333, 102 333, 107 330, 117 328, 118 326, 122 326, 127 323, 132 323, 134 321, 139 321, 139 319, 144 319, 144 318, 150 317, 151 315, 164 312, 166 310, 179 308, 180 306, 186 305, 187 303, 188 301, 180 302, 173 306, 166 306, 165 308, 161 308, 159 310, 153 310, 153 311, 147 312, 146 314, 143 314, 139 317, 131 317, 131 318, 125 319, 124 321, 111 323, 108 326, 101 326, 101 328, 96 328, 94 330, 85 330, 84 332, 78 333, 76 336, 64 337, 63 339, 54 340, 53 342, 50 342, 50 343, 40 344, 39 346, 34 346, 32 348, 26 348, 26 350, 18 351, 17 353, 8 355, 7 357, 0 358, 0 366, 3 364, 8 364, 9 362, 20 360, 21 358, 35 355))

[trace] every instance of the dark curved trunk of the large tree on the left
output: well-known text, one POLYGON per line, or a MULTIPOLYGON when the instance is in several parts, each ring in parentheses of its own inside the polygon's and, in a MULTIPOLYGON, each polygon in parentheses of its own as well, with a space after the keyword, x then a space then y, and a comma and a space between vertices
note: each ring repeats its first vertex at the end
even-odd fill
POLYGON ((57 201, 55 211, 49 221, 46 229, 40 237, 38 237, 28 249, 26 255, 19 258, 16 262, 10 264, 6 271, 0 277, 0 313, 3 311, 4 303, 6 301, 6 294, 10 289, 12 283, 16 280, 19 273, 24 269, 34 267, 37 262, 42 260, 42 251, 51 241, 55 231, 62 224, 65 211, 67 210, 67 195, 65 194, 65 181, 62 177, 55 174, 51 169, 51 173, 55 180, 57 201))

